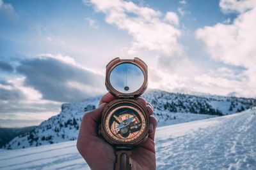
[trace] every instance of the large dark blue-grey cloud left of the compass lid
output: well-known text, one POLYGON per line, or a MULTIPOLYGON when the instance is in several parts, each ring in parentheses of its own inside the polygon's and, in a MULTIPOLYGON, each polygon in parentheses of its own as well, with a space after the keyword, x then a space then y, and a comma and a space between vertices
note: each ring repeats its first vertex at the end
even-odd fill
POLYGON ((23 60, 17 72, 26 76, 26 86, 51 101, 81 101, 105 90, 102 74, 79 66, 68 56, 41 55, 23 60))

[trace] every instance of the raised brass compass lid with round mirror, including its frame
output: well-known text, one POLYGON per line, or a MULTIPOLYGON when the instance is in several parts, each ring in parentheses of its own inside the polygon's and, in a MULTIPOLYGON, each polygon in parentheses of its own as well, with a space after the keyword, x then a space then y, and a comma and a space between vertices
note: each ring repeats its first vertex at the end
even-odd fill
POLYGON ((147 64, 138 57, 111 60, 106 66, 106 88, 118 97, 133 98, 145 92, 148 85, 147 64))

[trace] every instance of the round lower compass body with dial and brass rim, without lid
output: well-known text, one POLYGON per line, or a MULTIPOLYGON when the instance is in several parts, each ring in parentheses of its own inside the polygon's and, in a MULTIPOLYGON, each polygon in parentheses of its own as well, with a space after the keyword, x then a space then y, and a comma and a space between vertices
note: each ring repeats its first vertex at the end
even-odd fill
POLYGON ((118 99, 111 103, 104 115, 104 138, 114 145, 130 145, 133 148, 148 133, 148 117, 142 104, 118 99))

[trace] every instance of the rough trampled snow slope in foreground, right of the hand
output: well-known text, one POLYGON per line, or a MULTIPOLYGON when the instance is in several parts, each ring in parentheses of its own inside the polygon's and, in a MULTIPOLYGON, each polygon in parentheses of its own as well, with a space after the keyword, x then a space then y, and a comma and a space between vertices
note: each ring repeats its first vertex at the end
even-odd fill
POLYGON ((159 128, 157 169, 255 169, 255 112, 159 128))

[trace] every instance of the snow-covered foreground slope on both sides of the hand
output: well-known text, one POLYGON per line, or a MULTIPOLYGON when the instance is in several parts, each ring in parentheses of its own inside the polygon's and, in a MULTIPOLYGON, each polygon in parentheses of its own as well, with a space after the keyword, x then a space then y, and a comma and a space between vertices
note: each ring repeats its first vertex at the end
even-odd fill
MULTIPOLYGON (((157 128, 157 169, 256 169, 256 109, 157 128)), ((0 169, 89 169, 76 141, 0 150, 0 169)))

